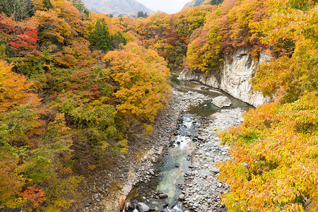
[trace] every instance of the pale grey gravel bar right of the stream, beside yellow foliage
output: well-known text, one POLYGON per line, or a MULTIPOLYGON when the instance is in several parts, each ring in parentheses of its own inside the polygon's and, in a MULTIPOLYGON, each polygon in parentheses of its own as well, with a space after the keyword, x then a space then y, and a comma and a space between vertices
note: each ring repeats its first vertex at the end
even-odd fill
POLYGON ((192 170, 185 174, 186 183, 180 185, 182 194, 179 199, 192 211, 226 211, 220 202, 220 194, 229 190, 217 177, 220 172, 214 164, 229 160, 228 146, 220 146, 215 132, 237 126, 242 122, 244 111, 236 108, 221 110, 199 131, 196 152, 192 158, 192 170))

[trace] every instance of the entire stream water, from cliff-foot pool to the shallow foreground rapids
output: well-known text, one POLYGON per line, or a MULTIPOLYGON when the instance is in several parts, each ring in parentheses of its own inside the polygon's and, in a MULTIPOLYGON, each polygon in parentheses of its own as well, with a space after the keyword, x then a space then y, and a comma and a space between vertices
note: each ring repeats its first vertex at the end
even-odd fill
MULTIPOLYGON (((248 110, 251 108, 247 103, 232 98, 221 90, 203 86, 200 83, 179 81, 172 78, 172 87, 184 93, 194 91, 211 96, 211 98, 226 95, 230 98, 232 105, 225 107, 225 109, 240 107, 243 110, 248 110)), ((179 120, 177 133, 171 136, 172 146, 167 149, 162 160, 154 166, 158 176, 153 177, 146 184, 137 184, 129 194, 128 199, 135 204, 144 202, 151 208, 155 208, 156 211, 187 211, 187 208, 184 208, 182 203, 177 200, 181 194, 178 187, 187 183, 184 182, 184 174, 190 171, 189 165, 191 165, 192 155, 196 148, 195 141, 197 141, 198 129, 204 124, 201 117, 210 117, 211 114, 220 110, 222 109, 213 105, 211 101, 190 107, 189 111, 184 113, 179 120), (158 198, 159 194, 166 194, 167 198, 160 199, 158 198)))

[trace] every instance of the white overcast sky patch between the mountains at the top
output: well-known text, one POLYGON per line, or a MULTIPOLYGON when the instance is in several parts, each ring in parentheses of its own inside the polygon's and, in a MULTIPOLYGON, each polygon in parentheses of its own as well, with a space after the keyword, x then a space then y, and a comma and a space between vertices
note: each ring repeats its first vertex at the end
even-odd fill
POLYGON ((136 0, 153 11, 177 13, 191 0, 136 0))

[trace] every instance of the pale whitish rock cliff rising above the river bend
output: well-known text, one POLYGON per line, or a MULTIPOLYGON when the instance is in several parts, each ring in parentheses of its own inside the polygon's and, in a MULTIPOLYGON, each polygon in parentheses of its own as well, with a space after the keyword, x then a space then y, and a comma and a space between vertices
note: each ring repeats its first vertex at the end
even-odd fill
POLYGON ((230 59, 225 59, 220 73, 206 74, 199 71, 182 71, 179 79, 198 81, 213 88, 220 88, 250 105, 262 105, 268 102, 269 98, 264 98, 260 92, 253 90, 249 80, 255 76, 255 69, 258 64, 263 61, 269 61, 270 56, 261 52, 259 63, 257 63, 247 53, 248 49, 238 49, 234 54, 230 55, 230 59))

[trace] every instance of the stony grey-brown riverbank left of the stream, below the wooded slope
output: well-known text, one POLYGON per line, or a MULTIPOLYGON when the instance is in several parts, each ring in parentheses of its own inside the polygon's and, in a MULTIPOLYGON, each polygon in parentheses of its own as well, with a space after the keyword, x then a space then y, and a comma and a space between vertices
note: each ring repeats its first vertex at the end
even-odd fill
POLYGON ((210 97, 196 92, 181 93, 175 88, 171 88, 171 91, 169 105, 158 113, 153 122, 152 134, 129 143, 128 153, 120 155, 113 167, 87 179, 83 189, 87 192, 86 198, 80 206, 73 209, 119 211, 134 184, 147 182, 154 177, 149 174, 164 148, 170 145, 170 137, 177 128, 179 116, 189 110, 190 105, 200 105, 211 100, 210 97))

